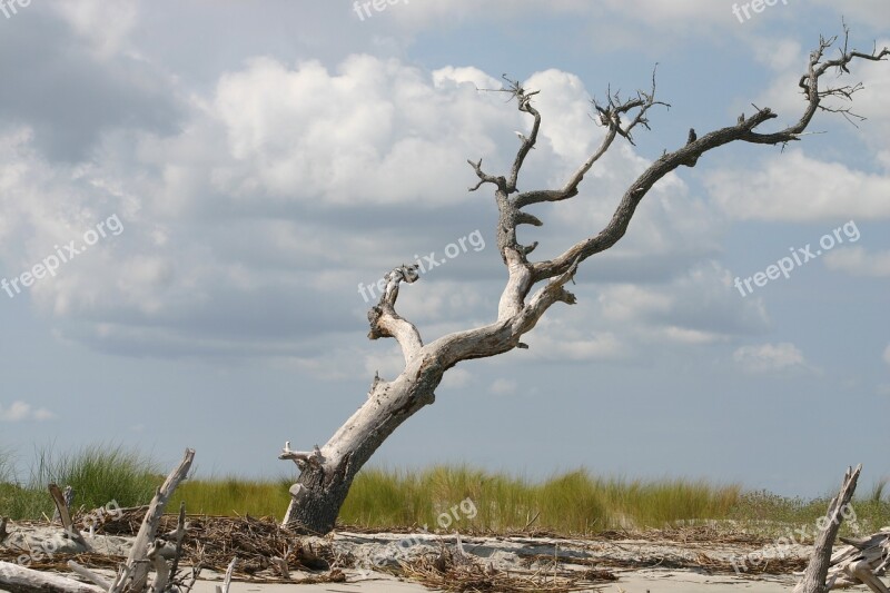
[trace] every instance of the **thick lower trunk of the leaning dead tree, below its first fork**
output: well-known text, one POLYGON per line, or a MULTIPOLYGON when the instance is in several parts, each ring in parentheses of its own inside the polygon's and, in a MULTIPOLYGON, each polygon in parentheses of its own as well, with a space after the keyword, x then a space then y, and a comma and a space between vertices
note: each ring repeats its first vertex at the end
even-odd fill
POLYGON ((395 380, 375 377, 367 402, 324 447, 294 456, 286 447, 281 457, 294 458, 301 472, 290 487, 285 525, 304 533, 330 532, 355 475, 393 431, 435 401, 443 373, 432 358, 415 357, 395 380))

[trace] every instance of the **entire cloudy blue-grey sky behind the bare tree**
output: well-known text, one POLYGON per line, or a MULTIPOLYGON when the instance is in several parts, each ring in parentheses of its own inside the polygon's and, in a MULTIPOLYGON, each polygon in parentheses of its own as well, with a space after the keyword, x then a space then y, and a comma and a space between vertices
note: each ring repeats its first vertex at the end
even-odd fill
MULTIPOLYGON (((779 115, 763 130, 797 121, 820 34, 890 46, 888 0, 18 1, 0 8, 0 448, 166 467, 188 446, 205 476, 293 474, 285 441, 324 444, 399 373, 366 336, 393 267, 439 263, 397 307, 425 342, 496 317, 497 213, 466 161, 505 174, 531 129, 502 76, 540 91, 521 190, 595 149, 592 99, 655 71, 670 103, 578 196, 530 210, 544 226, 520 240, 547 258, 689 128, 753 106, 779 115)), ((889 477, 890 62, 856 62, 860 81, 856 126, 819 113, 799 142, 660 181, 576 305, 528 349, 451 369, 372 465, 801 496, 851 464, 889 477)))

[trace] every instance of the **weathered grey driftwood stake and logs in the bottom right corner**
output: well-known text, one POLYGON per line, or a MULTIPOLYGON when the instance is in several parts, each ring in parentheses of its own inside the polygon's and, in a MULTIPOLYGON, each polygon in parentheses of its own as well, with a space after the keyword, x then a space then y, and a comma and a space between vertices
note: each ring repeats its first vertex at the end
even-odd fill
POLYGON ((869 537, 842 537, 841 541, 848 545, 834 555, 831 553, 861 471, 862 465, 847 470, 841 491, 829 505, 823 517, 824 528, 817 537, 813 556, 794 593, 825 593, 854 585, 866 585, 876 593, 890 593, 879 579, 890 565, 890 528, 884 527, 869 537))

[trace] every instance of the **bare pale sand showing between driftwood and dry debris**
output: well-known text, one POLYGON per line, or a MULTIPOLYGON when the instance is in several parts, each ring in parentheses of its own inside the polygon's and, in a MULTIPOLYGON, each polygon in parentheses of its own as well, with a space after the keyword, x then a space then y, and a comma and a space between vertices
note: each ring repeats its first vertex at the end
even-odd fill
MULTIPOLYGON (((22 537, 58 537, 58 530, 51 527, 17 527, 16 533, 4 542, 17 543, 22 537)), ((375 566, 395 566, 399 561, 412 562, 421 556, 441 553, 443 548, 456 551, 510 574, 553 570, 552 559, 562 559, 560 570, 583 571, 590 567, 605 569, 619 577, 617 581, 592 586, 585 591, 609 593, 670 593, 670 592, 718 592, 739 591, 751 593, 777 593, 791 591, 797 576, 781 575, 736 575, 728 570, 728 562, 762 550, 763 543, 726 543, 718 538, 684 537, 637 537, 571 540, 548 537, 459 537, 456 535, 435 535, 429 533, 397 534, 377 533, 373 535, 338 532, 316 544, 333 545, 337 555, 352 559, 350 566, 344 569, 346 582, 300 584, 270 583, 274 574, 264 575, 261 581, 235 580, 230 593, 281 593, 299 591, 314 592, 360 592, 360 593, 409 593, 429 591, 423 585, 400 581, 389 574, 375 571, 375 566), (711 572, 701 563, 702 559, 712 563, 719 561, 722 569, 711 572), (619 567, 616 567, 619 566, 619 567), (266 581, 266 582, 264 582, 266 581)), ((99 550, 123 555, 131 537, 97 536, 92 545, 99 550)), ((0 546, 2 547, 2 546, 0 546)), ((797 546, 789 554, 805 557, 807 546, 797 546)), ((706 562, 705 562, 706 563, 706 562)), ((102 571, 97 571, 102 572, 102 571)), ((111 573, 107 573, 111 574, 111 573)), ((322 573, 291 571, 296 580, 318 576, 322 573)), ((550 574, 550 573, 548 573, 550 574)), ((221 575, 205 571, 195 586, 195 593, 214 593, 221 575)), ((2 589, 0 589, 2 591, 2 589)))

